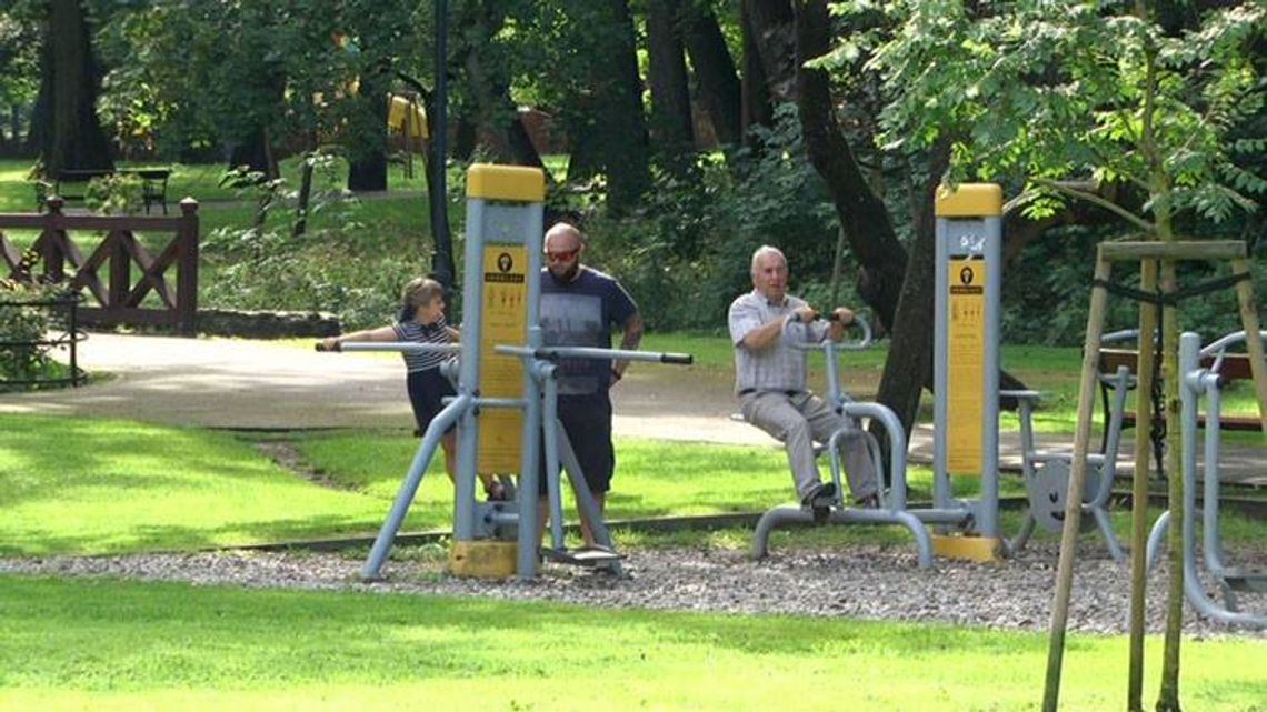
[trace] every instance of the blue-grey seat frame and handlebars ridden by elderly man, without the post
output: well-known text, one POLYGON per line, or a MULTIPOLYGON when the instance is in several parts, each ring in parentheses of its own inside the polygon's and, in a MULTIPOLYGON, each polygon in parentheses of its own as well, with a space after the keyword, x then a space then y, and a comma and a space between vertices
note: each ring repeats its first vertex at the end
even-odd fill
POLYGON ((802 351, 820 351, 825 356, 827 404, 840 416, 846 418, 846 424, 831 435, 827 441, 829 461, 831 464, 831 481, 835 483, 835 495, 830 504, 818 505, 778 505, 768 509, 756 522, 756 531, 753 535, 753 557, 764 559, 769 554, 769 536, 775 527, 792 523, 834 523, 834 524, 898 524, 911 531, 919 550, 919 563, 921 568, 933 565, 933 544, 924 523, 906 511, 906 432, 901 421, 886 405, 881 403, 856 403, 841 388, 839 367, 836 362, 837 350, 867 348, 872 341, 870 326, 860 315, 854 315, 850 326, 862 329, 863 336, 856 342, 843 341, 836 343, 829 337, 827 322, 820 319, 817 324, 798 324, 791 319, 783 326, 780 338, 789 341, 793 348, 802 351), (822 333, 817 341, 792 341, 797 337, 808 338, 813 333, 822 333), (884 493, 884 481, 881 476, 883 462, 879 445, 865 429, 855 424, 856 418, 869 418, 879 422, 888 433, 893 446, 893 457, 889 462, 889 481, 892 489, 884 493), (874 509, 862 507, 843 505, 843 493, 845 488, 840 478, 840 441, 859 431, 863 442, 867 443, 868 455, 874 464, 875 492, 879 495, 879 507, 874 509))

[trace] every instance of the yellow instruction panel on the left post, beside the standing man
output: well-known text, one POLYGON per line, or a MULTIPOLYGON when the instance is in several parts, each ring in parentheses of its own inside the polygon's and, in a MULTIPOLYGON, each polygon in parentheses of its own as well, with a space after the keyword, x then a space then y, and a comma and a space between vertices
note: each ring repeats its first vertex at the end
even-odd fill
MULTIPOLYGON (((479 343, 479 384, 484 398, 521 398, 523 364, 518 356, 494 353, 497 343, 527 342, 527 248, 522 245, 485 245, 481 280, 483 310, 479 343)), ((519 408, 480 408, 480 473, 518 473, 523 416, 519 408)))

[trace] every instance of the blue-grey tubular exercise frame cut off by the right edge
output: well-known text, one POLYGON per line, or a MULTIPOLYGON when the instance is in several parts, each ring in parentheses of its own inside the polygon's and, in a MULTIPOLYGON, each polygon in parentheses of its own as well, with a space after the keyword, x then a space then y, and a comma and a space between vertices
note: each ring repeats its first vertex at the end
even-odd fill
MULTIPOLYGON (((1267 332, 1259 338, 1267 340, 1267 332)), ((1240 609, 1237 592, 1267 592, 1267 571, 1254 571, 1238 566, 1228 566, 1223 550, 1223 537, 1219 532, 1219 433, 1220 433, 1220 391, 1224 379, 1219 367, 1229 346, 1245 341, 1245 332, 1235 332, 1201 347, 1201 337, 1192 332, 1180 336, 1180 403, 1183 438, 1182 476, 1183 476, 1183 594, 1197 613, 1232 626, 1267 628, 1267 612, 1249 613, 1240 609), (1211 359, 1210 366, 1202 366, 1205 359, 1211 359), (1223 597, 1223 603, 1206 594, 1197 569, 1196 552, 1196 431, 1197 408, 1205 398, 1205 461, 1201 471, 1201 554, 1205 573, 1213 579, 1223 597)), ((1148 537, 1148 568, 1157 563, 1163 545, 1163 537, 1171 523, 1171 512, 1166 511, 1153 524, 1148 537)))

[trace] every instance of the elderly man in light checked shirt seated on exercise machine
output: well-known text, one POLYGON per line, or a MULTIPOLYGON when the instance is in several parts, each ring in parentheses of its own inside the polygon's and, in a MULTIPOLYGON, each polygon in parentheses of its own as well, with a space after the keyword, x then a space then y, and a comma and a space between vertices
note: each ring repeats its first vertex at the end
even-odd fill
MULTIPOLYGON (((783 442, 801 503, 830 507, 839 502, 836 488, 820 479, 813 442, 826 442, 849 424, 849 418, 806 388, 806 352, 789 342, 818 340, 824 334, 839 340, 854 313, 839 307, 830 326, 815 323, 818 313, 787 294, 787 258, 774 247, 759 247, 753 253, 750 271, 753 291, 735 299, 729 315, 740 412, 745 421, 783 442)), ((841 451, 854 502, 875 507, 874 465, 862 431, 841 438, 841 451)))

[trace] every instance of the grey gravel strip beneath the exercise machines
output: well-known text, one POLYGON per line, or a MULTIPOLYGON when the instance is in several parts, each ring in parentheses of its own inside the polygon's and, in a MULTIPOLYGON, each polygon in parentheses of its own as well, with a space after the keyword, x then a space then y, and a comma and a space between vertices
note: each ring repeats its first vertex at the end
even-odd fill
MULTIPOLYGON (((1050 621, 1054 544, 1031 546, 1002 564, 936 560, 915 566, 905 547, 773 551, 753 561, 745 551, 628 551, 623 576, 547 565, 536 580, 476 580, 441 573, 437 556, 390 561, 386 580, 364 584, 360 561, 340 554, 224 551, 98 557, 0 559, 0 573, 125 576, 198 585, 288 587, 398 594, 479 595, 584 606, 727 613, 788 613, 1043 631, 1050 621)), ((1242 561, 1261 566, 1267 556, 1242 561)), ((1164 623, 1164 568, 1149 576, 1149 631, 1164 623)), ((1074 578, 1069 630, 1120 633, 1128 628, 1129 571, 1102 550, 1083 546, 1074 578)), ((1267 611, 1267 595, 1245 594, 1245 609, 1267 611)), ((1267 631, 1226 628, 1185 613, 1191 636, 1238 635, 1267 640, 1267 631)))

